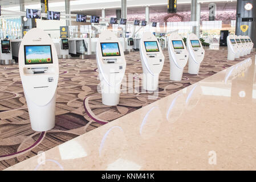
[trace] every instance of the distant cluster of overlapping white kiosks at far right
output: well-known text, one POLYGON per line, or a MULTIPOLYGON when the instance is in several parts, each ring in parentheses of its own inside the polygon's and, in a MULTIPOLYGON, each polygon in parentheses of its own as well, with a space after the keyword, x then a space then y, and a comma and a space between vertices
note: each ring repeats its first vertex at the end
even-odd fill
POLYGON ((227 36, 227 60, 235 60, 241 56, 249 55, 253 46, 249 36, 227 36))

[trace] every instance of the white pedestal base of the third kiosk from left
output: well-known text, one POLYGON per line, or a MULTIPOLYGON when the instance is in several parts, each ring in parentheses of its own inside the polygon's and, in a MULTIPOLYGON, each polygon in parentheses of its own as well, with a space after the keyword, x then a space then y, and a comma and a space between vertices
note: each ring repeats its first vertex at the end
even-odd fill
POLYGON ((143 74, 143 89, 149 91, 157 90, 159 86, 159 75, 143 74))

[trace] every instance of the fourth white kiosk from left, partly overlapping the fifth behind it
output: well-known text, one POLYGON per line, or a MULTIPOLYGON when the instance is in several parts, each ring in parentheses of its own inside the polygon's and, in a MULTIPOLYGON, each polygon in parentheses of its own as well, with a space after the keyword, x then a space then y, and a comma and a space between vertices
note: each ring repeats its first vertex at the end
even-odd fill
POLYGON ((183 69, 188 63, 189 53, 180 35, 170 34, 168 40, 170 80, 181 81, 183 69))

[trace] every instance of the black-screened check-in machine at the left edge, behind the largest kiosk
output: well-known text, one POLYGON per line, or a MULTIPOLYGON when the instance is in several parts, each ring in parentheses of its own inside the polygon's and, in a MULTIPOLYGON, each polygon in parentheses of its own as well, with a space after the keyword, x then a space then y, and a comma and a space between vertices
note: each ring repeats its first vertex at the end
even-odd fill
POLYGON ((8 39, 1 40, 0 64, 15 64, 11 53, 11 43, 8 39))

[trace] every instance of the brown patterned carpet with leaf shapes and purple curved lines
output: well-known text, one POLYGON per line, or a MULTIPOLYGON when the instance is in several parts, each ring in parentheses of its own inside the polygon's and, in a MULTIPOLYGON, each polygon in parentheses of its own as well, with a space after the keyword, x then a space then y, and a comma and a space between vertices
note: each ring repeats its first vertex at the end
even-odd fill
MULTIPOLYGON (((169 81, 168 52, 164 51, 164 54, 165 64, 160 73, 159 93, 155 99, 166 97, 214 75, 255 53, 227 61, 226 50, 206 50, 200 73, 190 75, 186 66, 182 81, 169 81)), ((46 133, 31 130, 18 65, 0 65, 0 169, 13 166, 35 156, 39 151, 49 150, 156 101, 152 99, 153 93, 136 92, 141 90, 141 86, 136 86, 134 90, 128 89, 127 85, 134 81, 139 81, 141 85, 142 68, 139 52, 129 53, 125 57, 126 75, 134 75, 132 80, 124 80, 121 88, 129 93, 122 93, 120 104, 112 107, 101 104, 101 96, 97 92, 99 80, 95 59, 59 60, 56 125, 46 133)))

